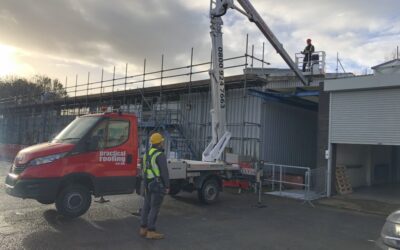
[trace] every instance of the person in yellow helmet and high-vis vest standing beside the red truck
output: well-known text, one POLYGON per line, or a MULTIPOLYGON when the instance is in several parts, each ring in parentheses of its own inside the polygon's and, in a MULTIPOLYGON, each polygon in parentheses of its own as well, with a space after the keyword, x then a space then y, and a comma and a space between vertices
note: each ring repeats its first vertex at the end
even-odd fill
POLYGON ((157 216, 164 195, 169 193, 169 174, 167 158, 163 151, 163 136, 160 133, 152 134, 150 144, 150 150, 143 157, 145 196, 139 234, 147 239, 163 239, 164 235, 156 231, 157 216))

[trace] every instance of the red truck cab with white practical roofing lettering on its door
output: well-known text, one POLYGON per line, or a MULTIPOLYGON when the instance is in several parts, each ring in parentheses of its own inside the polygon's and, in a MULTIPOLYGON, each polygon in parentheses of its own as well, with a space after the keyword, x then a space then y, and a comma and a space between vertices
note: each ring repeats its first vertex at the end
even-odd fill
POLYGON ((103 113, 77 117, 50 142, 21 150, 6 177, 6 192, 42 204, 55 203, 74 218, 92 195, 128 194, 138 174, 137 118, 103 113))

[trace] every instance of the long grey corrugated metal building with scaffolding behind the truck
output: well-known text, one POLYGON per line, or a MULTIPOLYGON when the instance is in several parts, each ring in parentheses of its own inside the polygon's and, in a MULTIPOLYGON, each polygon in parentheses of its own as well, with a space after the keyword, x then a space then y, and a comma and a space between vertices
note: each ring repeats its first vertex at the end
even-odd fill
MULTIPOLYGON (((235 60, 237 64, 229 68, 243 73, 226 77, 230 151, 267 162, 316 167, 318 90, 325 76, 304 87, 290 70, 253 67, 255 61, 264 66, 264 59, 247 52, 235 60)), ((65 98, 1 100, 0 142, 32 145, 47 141, 77 115, 100 112, 102 107, 120 108, 137 114, 142 133, 163 130, 171 156, 199 159, 211 136, 206 64, 66 83, 65 98), (203 80, 192 80, 199 75, 203 80), (187 80, 165 84, 182 76, 187 80)))

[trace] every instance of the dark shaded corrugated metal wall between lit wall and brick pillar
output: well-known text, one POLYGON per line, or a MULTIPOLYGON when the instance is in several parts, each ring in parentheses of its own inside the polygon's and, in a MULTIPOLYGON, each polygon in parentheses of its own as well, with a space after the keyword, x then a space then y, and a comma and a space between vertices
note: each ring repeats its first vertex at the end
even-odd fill
POLYGON ((262 158, 266 162, 315 167, 318 113, 266 102, 262 119, 262 158))

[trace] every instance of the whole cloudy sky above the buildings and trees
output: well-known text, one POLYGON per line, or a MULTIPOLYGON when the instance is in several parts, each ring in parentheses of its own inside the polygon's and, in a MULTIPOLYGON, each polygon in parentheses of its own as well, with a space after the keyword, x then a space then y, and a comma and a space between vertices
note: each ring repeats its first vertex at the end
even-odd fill
MULTIPOLYGON (((327 71, 339 58, 347 72, 370 68, 395 56, 400 45, 399 0, 253 0, 289 55, 311 38, 325 51, 327 71)), ((98 80, 110 76, 185 66, 210 59, 208 0, 0 0, 0 77, 48 75, 98 80)), ((239 5, 238 3, 236 3, 239 5)), ((249 46, 270 67, 287 68, 257 27, 235 10, 223 17, 225 57, 249 46)), ((255 65, 257 67, 257 65, 255 65)), ((71 80, 70 80, 71 81, 71 80)))

